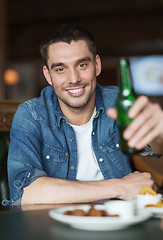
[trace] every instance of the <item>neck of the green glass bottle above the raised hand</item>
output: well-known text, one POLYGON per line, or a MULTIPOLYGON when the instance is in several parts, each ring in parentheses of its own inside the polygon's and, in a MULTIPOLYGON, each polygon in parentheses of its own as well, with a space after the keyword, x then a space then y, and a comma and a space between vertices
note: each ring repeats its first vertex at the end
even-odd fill
POLYGON ((129 61, 126 58, 119 60, 119 87, 123 96, 128 96, 133 92, 129 61))

